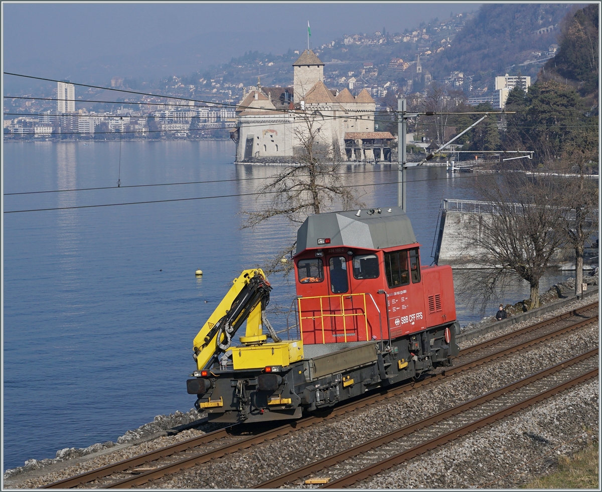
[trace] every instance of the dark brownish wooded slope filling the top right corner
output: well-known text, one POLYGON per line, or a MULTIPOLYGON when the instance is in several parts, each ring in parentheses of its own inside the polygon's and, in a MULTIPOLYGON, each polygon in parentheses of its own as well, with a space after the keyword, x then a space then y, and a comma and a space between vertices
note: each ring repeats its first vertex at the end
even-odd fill
POLYGON ((591 4, 566 19, 560 49, 542 70, 541 77, 555 76, 571 81, 582 96, 598 92, 600 54, 598 52, 599 6, 591 4))

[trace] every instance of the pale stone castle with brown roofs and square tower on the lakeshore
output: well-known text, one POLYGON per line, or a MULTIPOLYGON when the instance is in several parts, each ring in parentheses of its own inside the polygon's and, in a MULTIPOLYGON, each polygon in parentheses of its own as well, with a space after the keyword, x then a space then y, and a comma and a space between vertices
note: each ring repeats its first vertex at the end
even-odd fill
POLYGON ((354 97, 348 89, 328 89, 324 63, 311 49, 293 69, 293 87, 262 87, 258 79, 238 103, 231 130, 237 162, 292 163, 308 139, 329 149, 335 160, 391 160, 395 137, 374 131, 376 103, 367 90, 354 97))

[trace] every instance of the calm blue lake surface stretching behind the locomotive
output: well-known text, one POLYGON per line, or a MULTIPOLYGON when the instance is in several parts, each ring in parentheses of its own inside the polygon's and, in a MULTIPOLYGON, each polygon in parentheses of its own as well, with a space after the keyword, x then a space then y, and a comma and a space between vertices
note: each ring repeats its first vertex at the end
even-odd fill
MULTIPOLYGON (((253 193, 262 182, 253 178, 279 169, 235 165, 234 152, 227 141, 123 142, 121 149, 119 142, 8 142, 4 210, 253 193), (118 176, 120 188, 6 195, 115 187, 118 176), (238 181, 126 187, 219 179, 238 181)), ((396 181, 395 165, 347 170, 369 207, 397 204, 396 184, 386 184, 396 181)), ((441 199, 474 198, 472 178, 440 167, 408 175, 408 214, 429 264, 441 199)), ((185 380, 195 369, 194 335, 241 270, 296 235, 281 220, 240 229, 240 212, 266 200, 4 214, 4 469, 54 458, 63 447, 115 441, 158 414, 192 408, 185 380)), ((542 291, 568 275, 547 276, 542 291)), ((270 280, 270 307, 288 310, 294 285, 270 280)), ((528 296, 528 284, 517 281, 492 304, 528 296)), ((462 325, 482 316, 458 304, 462 325)))

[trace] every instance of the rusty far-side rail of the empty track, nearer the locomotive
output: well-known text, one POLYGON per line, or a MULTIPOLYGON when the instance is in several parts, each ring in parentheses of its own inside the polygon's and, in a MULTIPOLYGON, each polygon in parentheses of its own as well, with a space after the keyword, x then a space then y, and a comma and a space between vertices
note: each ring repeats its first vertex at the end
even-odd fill
POLYGON ((545 378, 545 376, 548 376, 555 372, 559 372, 560 370, 565 369, 565 367, 573 366, 574 364, 577 364, 588 358, 594 357, 597 354, 598 348, 589 350, 588 352, 582 353, 577 357, 573 357, 569 360, 562 361, 559 364, 548 367, 547 369, 541 370, 531 376, 527 376, 526 378, 520 379, 519 381, 498 388, 497 390, 490 391, 489 393, 483 394, 482 396, 476 397, 472 400, 468 400, 467 402, 452 406, 452 408, 443 410, 433 416, 418 420, 417 422, 403 426, 399 429, 388 432, 387 434, 375 437, 369 441, 366 441, 365 443, 358 444, 358 446, 351 447, 350 449, 346 449, 332 456, 327 456, 326 458, 320 459, 319 461, 312 462, 306 466, 300 467, 296 470, 292 470, 291 472, 284 473, 283 475, 277 476, 265 482, 261 482, 261 484, 253 485, 253 487, 250 488, 278 488, 282 487, 282 485, 290 484, 290 482, 304 478, 310 475, 311 473, 319 472, 320 470, 324 470, 327 467, 334 466, 338 462, 344 461, 349 458, 353 458, 353 456, 357 456, 361 453, 368 452, 371 449, 382 446, 383 444, 388 444, 391 441, 402 438, 408 434, 412 434, 412 432, 418 431, 419 429, 431 426, 435 423, 441 422, 442 420, 448 419, 449 417, 455 416, 456 414, 467 411, 468 409, 482 405, 482 403, 495 399, 504 393, 509 393, 510 391, 514 391, 517 388, 532 384, 533 382, 538 381, 539 379, 545 378))

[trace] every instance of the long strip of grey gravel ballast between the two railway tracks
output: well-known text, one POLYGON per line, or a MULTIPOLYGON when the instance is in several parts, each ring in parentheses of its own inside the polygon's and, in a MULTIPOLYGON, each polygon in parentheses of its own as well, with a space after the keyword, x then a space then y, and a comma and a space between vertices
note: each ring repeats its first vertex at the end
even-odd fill
POLYGON ((402 397, 371 405, 321 425, 300 429, 279 440, 264 443, 187 470, 181 475, 147 485, 152 488, 246 488, 259 481, 296 469, 377 435, 393 431, 465 400, 551 366, 566 356, 596 346, 597 326, 558 337, 551 344, 504 358, 503 364, 487 364, 441 384, 417 388, 402 397))

